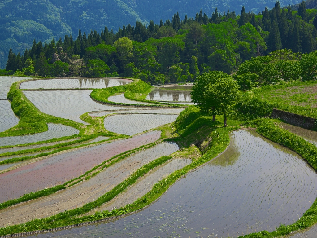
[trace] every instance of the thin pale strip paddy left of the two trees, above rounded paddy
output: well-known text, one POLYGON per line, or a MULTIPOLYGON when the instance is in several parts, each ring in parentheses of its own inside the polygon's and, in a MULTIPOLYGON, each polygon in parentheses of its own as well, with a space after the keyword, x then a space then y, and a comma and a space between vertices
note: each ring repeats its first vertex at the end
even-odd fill
POLYGON ((100 117, 107 116, 113 113, 122 114, 122 113, 142 113, 142 114, 180 114, 185 108, 166 108, 166 109, 125 109, 125 110, 112 110, 112 111, 100 111, 89 113, 89 116, 100 117))

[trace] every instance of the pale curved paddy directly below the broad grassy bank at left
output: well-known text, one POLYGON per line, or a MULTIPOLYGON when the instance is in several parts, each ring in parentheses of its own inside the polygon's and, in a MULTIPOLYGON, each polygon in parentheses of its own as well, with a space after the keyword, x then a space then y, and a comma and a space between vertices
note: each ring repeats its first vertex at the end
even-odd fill
POLYGON ((36 133, 33 135, 26 136, 0 137, 0 146, 29 144, 40 141, 47 141, 53 138, 60 138, 64 136, 72 136, 79 134, 78 129, 75 129, 70 126, 53 123, 47 123, 47 126, 49 127, 49 129, 42 133, 36 133))

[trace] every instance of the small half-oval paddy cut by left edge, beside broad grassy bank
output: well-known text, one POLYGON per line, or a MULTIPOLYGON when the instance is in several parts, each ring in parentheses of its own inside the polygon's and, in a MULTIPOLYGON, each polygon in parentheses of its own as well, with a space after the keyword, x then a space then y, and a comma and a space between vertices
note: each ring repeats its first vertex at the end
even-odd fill
POLYGON ((8 100, 0 100, 0 132, 16 126, 19 121, 11 109, 11 103, 8 100))

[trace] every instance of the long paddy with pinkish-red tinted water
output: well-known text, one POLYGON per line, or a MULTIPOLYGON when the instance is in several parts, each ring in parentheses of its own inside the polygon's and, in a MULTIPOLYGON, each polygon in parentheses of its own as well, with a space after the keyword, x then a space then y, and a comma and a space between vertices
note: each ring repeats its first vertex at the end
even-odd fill
POLYGON ((74 149, 0 174, 0 201, 63 184, 114 155, 157 141, 160 135, 160 131, 151 131, 128 139, 74 149))

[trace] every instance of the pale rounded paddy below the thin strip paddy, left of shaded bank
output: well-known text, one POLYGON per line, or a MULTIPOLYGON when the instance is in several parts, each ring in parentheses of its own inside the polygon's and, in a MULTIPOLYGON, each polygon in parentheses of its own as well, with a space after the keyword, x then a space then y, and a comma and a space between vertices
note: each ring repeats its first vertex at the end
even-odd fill
POLYGON ((124 114, 105 118, 105 129, 123 135, 135 135, 158 126, 174 122, 178 115, 124 114))

